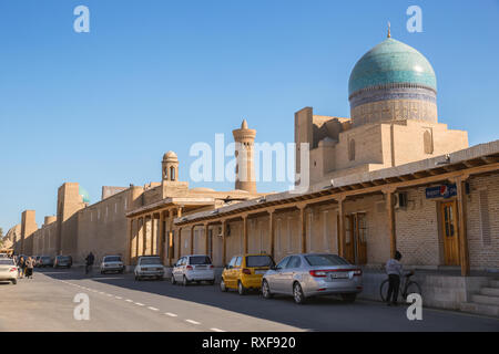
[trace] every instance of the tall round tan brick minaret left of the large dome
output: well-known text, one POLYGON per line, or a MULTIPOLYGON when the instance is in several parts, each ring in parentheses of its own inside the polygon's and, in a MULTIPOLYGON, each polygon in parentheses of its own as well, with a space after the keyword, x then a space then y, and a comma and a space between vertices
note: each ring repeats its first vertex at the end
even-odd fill
POLYGON ((253 165, 253 144, 256 131, 247 127, 246 119, 241 124, 240 129, 232 131, 236 143, 235 157, 236 183, 235 189, 256 192, 255 167, 253 165))

